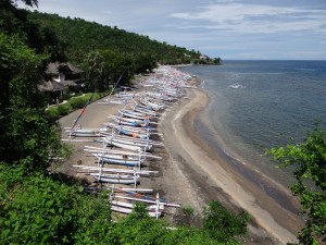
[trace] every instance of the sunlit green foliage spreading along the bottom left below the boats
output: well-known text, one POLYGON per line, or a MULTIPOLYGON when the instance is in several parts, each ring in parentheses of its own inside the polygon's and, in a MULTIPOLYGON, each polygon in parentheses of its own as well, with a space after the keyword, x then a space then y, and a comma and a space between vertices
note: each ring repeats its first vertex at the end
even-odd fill
POLYGON ((113 223, 108 193, 86 195, 58 180, 0 164, 1 244, 238 244, 216 240, 215 230, 171 229, 150 218, 145 205, 113 223))

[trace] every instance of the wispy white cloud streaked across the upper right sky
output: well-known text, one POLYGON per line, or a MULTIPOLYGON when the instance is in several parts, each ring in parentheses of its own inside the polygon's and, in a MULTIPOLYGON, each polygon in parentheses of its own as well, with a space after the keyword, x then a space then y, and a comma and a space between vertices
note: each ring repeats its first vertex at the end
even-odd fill
MULTIPOLYGON (((220 2, 192 12, 178 12, 171 17, 201 22, 203 28, 237 33, 278 33, 325 30, 326 11, 293 7, 220 2)), ((189 28, 191 25, 189 25, 189 28)), ((183 28, 187 28, 183 26, 183 28)))

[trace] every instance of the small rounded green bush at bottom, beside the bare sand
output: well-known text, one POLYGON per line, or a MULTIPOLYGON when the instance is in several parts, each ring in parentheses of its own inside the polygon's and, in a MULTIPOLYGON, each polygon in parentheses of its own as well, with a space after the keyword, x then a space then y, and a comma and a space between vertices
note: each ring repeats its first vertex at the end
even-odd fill
POLYGON ((233 215, 217 201, 210 201, 203 211, 203 228, 210 237, 221 243, 236 242, 236 235, 247 234, 247 223, 250 217, 247 212, 233 215))

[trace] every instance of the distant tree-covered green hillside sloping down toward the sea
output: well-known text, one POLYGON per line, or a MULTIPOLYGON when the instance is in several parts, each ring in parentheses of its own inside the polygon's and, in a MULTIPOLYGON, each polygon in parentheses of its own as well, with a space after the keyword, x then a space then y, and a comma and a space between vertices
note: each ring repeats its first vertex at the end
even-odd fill
POLYGON ((151 40, 148 36, 82 19, 64 19, 58 14, 37 11, 29 13, 28 19, 42 28, 54 30, 65 44, 70 59, 77 64, 83 63, 80 53, 88 53, 89 50, 110 50, 129 57, 134 60, 136 72, 151 70, 158 61, 163 64, 189 63, 190 60, 199 59, 201 56, 199 51, 189 51, 186 48, 167 45, 165 41, 151 40))

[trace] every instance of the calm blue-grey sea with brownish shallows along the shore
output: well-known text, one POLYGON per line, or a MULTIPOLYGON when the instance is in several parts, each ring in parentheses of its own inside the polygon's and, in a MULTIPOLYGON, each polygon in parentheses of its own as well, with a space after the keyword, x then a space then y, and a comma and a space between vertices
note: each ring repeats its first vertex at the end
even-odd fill
POLYGON ((264 152, 302 143, 317 121, 326 132, 326 61, 229 60, 180 70, 198 76, 210 97, 196 120, 198 134, 268 195, 283 199, 262 176, 288 186, 296 167, 279 168, 264 152))

